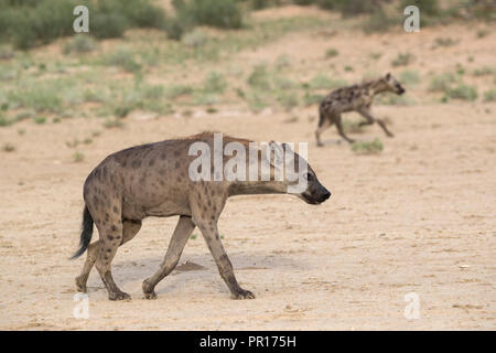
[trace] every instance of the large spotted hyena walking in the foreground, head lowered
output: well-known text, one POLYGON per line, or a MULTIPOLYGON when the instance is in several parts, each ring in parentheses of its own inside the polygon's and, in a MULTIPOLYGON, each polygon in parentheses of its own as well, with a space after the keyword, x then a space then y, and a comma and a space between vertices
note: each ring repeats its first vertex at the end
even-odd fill
MULTIPOLYGON (((237 141, 252 148, 248 140, 224 137, 224 141, 237 141)), ((233 265, 219 239, 217 221, 227 197, 240 194, 287 193, 292 182, 282 181, 193 181, 188 169, 196 156, 188 156, 193 142, 202 141, 214 150, 214 135, 204 132, 185 139, 166 140, 122 150, 107 157, 88 175, 84 185, 85 208, 80 248, 74 258, 88 250, 82 274, 76 277, 79 291, 86 291, 86 281, 91 267, 96 268, 108 290, 109 299, 130 299, 114 282, 110 264, 117 248, 129 242, 140 231, 141 221, 148 216, 168 217, 179 215, 179 223, 160 269, 142 285, 144 297, 155 298, 157 284, 177 265, 183 248, 197 226, 215 259, 220 277, 235 299, 251 299, 255 296, 239 287, 233 265), (96 224, 99 240, 89 245, 93 224, 96 224)), ((276 143, 276 142, 271 142, 276 143)), ((278 145, 288 150, 287 145, 278 145)), ((256 152, 261 159, 260 151, 256 152)), ((247 154, 248 156, 248 154, 247 154)), ((251 154, 250 154, 251 156, 251 154)), ((294 156, 298 156, 294 153, 294 156)), ((226 163, 231 156, 223 157, 226 163)), ((303 159, 298 158, 294 164, 303 159)), ((320 204, 331 193, 319 182, 314 171, 304 162, 306 189, 296 194, 310 204, 320 204)), ((257 164, 258 165, 258 164, 257 164)), ((248 168, 246 168, 248 171, 248 168)), ((213 170, 211 170, 213 172, 213 170)), ((270 163, 270 174, 274 175, 270 163)), ((259 173, 260 175, 260 173, 259 173)))

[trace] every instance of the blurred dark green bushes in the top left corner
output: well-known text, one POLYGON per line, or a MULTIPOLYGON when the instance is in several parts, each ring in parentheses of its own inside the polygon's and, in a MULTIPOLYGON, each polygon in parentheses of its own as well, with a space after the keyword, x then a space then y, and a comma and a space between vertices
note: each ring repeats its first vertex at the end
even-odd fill
POLYGON ((165 13, 151 0, 0 0, 0 41, 30 49, 74 34, 76 6, 89 9, 89 34, 122 36, 128 28, 163 28, 165 13))

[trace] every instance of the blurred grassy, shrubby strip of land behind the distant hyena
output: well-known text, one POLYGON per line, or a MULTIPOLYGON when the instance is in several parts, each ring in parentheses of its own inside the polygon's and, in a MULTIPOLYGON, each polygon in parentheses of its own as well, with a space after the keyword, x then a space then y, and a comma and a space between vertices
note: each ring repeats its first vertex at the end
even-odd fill
POLYGON ((291 111, 385 71, 410 89, 382 104, 496 99, 494 61, 468 47, 452 56, 465 44, 494 45, 489 0, 1 0, 0 8, 0 126, 91 117, 111 128, 138 110, 187 117, 224 105, 291 111), (87 34, 73 30, 78 4, 89 9, 87 34), (431 35, 397 50, 388 34, 407 41, 408 4, 420 8, 431 35), (466 42, 460 26, 472 32, 466 42), (362 39, 341 43, 338 34, 354 32, 362 39), (319 43, 272 50, 294 33, 319 43), (364 53, 370 41, 376 49, 364 53), (247 52, 256 57, 237 58, 247 52))

